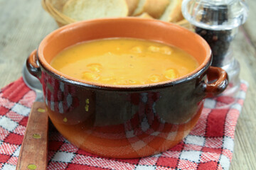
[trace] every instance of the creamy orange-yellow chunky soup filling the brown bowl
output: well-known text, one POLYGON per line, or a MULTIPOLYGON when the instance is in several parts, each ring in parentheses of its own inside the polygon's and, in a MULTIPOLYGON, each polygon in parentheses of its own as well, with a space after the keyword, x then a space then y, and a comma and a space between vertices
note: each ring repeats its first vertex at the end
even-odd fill
POLYGON ((177 47, 128 38, 82 42, 55 56, 51 66, 100 84, 153 84, 182 77, 198 62, 177 47))

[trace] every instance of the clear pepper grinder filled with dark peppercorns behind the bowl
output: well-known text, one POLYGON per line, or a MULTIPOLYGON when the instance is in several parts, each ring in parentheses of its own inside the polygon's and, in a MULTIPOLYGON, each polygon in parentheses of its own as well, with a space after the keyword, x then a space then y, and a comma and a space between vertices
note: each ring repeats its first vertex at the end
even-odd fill
POLYGON ((183 0, 182 13, 213 52, 212 66, 225 69, 229 77, 225 95, 235 96, 240 87, 240 64, 233 57, 231 42, 238 27, 245 23, 245 0, 183 0))

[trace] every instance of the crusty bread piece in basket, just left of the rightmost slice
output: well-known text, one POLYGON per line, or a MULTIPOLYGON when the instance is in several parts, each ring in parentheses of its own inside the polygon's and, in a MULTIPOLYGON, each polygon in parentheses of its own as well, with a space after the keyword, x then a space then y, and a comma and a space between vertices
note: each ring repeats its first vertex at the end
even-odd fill
POLYGON ((139 16, 146 12, 153 18, 159 18, 168 5, 169 0, 139 0, 139 4, 133 13, 133 16, 139 16))

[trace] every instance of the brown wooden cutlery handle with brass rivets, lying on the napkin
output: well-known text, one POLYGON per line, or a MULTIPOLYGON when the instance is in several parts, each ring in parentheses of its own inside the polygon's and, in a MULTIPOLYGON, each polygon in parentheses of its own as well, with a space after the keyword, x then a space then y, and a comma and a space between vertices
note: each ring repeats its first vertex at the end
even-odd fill
POLYGON ((48 115, 44 103, 35 102, 28 117, 16 170, 45 170, 48 164, 48 115))

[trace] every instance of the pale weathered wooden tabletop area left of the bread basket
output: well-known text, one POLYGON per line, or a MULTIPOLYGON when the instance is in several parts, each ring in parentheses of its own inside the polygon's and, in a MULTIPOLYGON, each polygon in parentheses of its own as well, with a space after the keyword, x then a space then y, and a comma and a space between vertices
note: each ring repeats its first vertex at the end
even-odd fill
POLYGON ((0 0, 0 87, 21 77, 23 62, 57 24, 40 0, 0 0))

